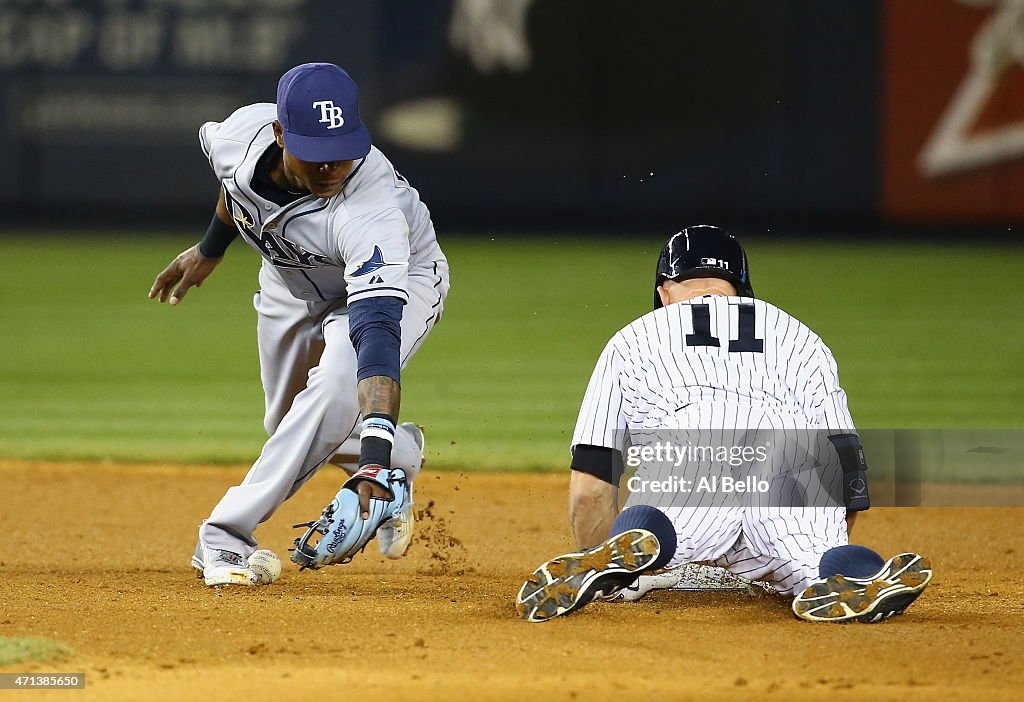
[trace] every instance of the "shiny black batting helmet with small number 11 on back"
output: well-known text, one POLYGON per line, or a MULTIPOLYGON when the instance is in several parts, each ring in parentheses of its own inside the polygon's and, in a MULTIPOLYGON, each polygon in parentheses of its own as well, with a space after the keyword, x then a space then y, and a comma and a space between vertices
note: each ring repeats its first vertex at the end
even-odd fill
POLYGON ((657 257, 654 274, 654 309, 662 306, 657 288, 666 280, 723 278, 744 298, 754 297, 746 253, 736 237, 710 224, 686 227, 672 235, 657 257))

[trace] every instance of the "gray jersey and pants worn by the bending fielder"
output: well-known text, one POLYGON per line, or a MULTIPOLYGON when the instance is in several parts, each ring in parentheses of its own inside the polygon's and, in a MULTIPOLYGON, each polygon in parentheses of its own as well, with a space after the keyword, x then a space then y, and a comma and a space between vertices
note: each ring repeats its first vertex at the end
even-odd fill
MULTIPOLYGON (((307 194, 279 205, 260 196, 253 173, 274 141, 275 119, 275 105, 259 103, 200 129, 236 226, 263 257, 253 304, 270 437, 242 484, 200 528, 208 549, 245 557, 256 549, 257 525, 317 469, 329 460, 354 469, 358 363, 348 303, 382 296, 406 303, 404 366, 440 318, 449 289, 447 261, 426 206, 377 148, 333 198, 307 194)), ((421 460, 416 433, 399 428, 392 466, 412 480, 421 460)))

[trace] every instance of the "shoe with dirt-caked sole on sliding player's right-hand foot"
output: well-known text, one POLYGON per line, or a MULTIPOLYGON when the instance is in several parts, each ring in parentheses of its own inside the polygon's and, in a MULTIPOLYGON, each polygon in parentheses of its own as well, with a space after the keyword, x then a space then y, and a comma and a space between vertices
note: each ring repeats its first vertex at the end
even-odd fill
POLYGON ((793 601, 805 621, 876 623, 901 614, 932 581, 932 564, 918 554, 889 559, 870 577, 833 575, 818 580, 793 601))

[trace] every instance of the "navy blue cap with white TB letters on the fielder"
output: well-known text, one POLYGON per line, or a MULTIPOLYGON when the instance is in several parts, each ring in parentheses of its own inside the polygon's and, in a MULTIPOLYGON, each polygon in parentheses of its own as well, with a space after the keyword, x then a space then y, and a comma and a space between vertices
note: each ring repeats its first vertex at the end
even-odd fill
POLYGON ((359 89, 334 63, 303 63, 281 77, 278 122, 285 147, 300 161, 350 161, 370 152, 359 89))

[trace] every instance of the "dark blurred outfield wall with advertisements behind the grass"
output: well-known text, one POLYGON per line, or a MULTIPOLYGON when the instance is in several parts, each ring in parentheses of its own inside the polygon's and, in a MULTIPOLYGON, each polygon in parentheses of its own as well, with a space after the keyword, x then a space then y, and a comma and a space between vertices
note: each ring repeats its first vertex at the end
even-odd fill
POLYGON ((451 223, 1024 219, 1013 3, 625 7, 0 0, 0 204, 193 222, 198 126, 330 60, 451 223))

